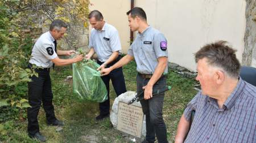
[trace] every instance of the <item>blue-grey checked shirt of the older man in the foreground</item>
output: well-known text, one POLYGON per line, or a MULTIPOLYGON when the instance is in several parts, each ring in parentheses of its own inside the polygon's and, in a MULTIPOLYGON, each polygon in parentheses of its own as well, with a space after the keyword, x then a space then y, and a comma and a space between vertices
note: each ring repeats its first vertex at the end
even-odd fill
POLYGON ((220 109, 216 99, 201 92, 184 111, 189 121, 196 110, 184 142, 256 142, 256 87, 241 78, 220 109))

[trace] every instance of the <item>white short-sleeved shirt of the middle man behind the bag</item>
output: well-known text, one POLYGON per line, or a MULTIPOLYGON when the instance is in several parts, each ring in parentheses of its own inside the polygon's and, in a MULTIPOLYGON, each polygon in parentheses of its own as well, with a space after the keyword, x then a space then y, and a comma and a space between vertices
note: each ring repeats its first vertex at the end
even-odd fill
POLYGON ((89 48, 94 49, 101 62, 108 60, 114 51, 121 53, 121 42, 117 29, 106 22, 101 31, 93 28, 90 32, 89 48))

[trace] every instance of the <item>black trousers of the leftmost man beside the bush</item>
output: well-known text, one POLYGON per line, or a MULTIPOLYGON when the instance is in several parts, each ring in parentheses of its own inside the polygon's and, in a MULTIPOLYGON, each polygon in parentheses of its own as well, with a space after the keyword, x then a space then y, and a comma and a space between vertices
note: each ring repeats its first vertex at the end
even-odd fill
POLYGON ((32 81, 28 83, 28 103, 31 107, 27 109, 27 129, 30 135, 39 132, 38 112, 42 102, 47 122, 52 123, 56 120, 52 105, 53 95, 49 68, 36 69, 35 71, 38 73, 38 77, 32 76, 32 81))

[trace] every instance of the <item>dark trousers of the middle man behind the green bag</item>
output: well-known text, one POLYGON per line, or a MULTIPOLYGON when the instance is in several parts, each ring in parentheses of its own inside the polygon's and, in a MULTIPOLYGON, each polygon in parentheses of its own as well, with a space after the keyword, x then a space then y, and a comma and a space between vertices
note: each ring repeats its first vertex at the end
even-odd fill
MULTIPOLYGON (((117 59, 115 59, 112 63, 109 63, 105 68, 109 68, 110 66, 113 66, 121 58, 122 58, 121 55, 119 55, 117 59)), ((100 60, 97 60, 97 63, 100 65, 102 64, 100 60)), ((110 100, 109 100, 110 79, 112 81, 115 94, 117 94, 117 96, 126 92, 125 77, 123 76, 122 67, 119 67, 111 71, 109 75, 101 76, 101 79, 104 81, 104 84, 106 85, 106 89, 108 90, 108 99, 105 102, 100 103, 100 115, 108 115, 109 109, 110 109, 110 100)))

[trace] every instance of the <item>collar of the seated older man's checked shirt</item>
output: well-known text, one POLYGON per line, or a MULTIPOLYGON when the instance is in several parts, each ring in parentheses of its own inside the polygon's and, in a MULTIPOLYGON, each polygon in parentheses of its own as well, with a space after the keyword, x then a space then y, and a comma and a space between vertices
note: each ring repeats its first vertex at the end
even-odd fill
MULTIPOLYGON (((224 110, 225 110, 225 108, 226 108, 226 110, 232 109, 232 107, 235 105, 238 97, 240 96, 244 86, 245 86, 245 81, 243 81, 241 79, 241 77, 239 77, 239 80, 238 80, 236 88, 233 90, 233 92, 230 94, 228 99, 226 99, 226 101, 223 104, 223 109, 224 110)), ((217 103, 216 99, 211 98, 211 97, 208 96, 207 101, 211 105, 213 105, 216 108, 218 108, 218 103, 217 103)))

